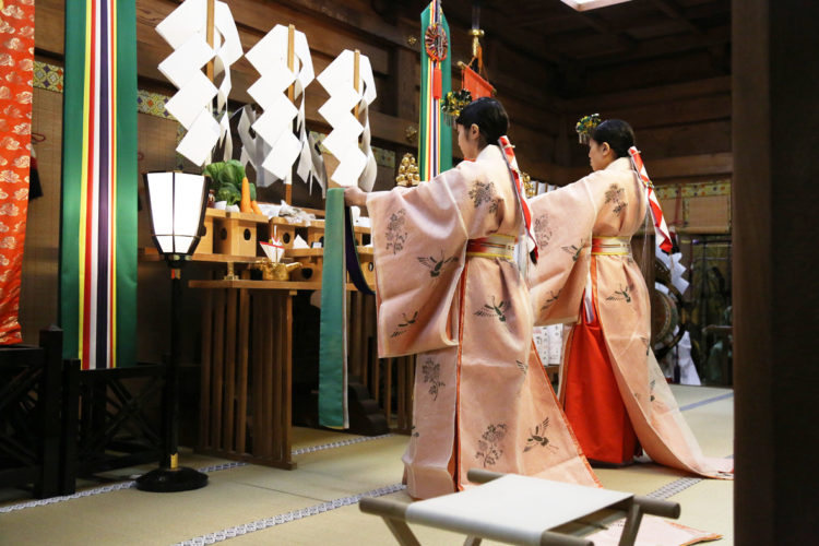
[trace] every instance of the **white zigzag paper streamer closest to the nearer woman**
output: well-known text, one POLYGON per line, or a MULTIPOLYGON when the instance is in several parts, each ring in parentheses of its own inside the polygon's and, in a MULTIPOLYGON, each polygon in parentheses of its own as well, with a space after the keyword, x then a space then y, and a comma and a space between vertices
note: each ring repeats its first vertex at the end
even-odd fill
POLYGON ((339 167, 331 179, 339 186, 358 185, 370 191, 376 181, 376 157, 370 147, 370 123, 368 108, 376 99, 376 82, 369 59, 359 55, 358 88, 355 90, 355 52, 345 49, 319 74, 317 80, 330 94, 330 98, 319 108, 319 114, 333 130, 322 144, 339 159, 339 167), (358 117, 353 108, 358 106, 358 117), (361 138, 360 145, 358 138, 361 138))

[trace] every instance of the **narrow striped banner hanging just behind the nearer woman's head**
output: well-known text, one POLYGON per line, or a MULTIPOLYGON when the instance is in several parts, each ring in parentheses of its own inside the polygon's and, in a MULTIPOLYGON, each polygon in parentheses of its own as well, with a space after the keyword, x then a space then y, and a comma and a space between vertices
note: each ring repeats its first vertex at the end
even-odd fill
MULTIPOLYGON (((418 134, 418 170, 422 180, 430 180, 452 168, 452 131, 441 127, 441 97, 452 90, 450 55, 437 62, 426 50, 429 28, 443 29, 449 40, 449 25, 439 0, 432 0, 420 14, 420 131, 418 134), (436 71, 440 74, 440 94, 436 93, 436 71), (436 95, 438 95, 436 97, 436 95)), ((450 49, 449 44, 446 46, 450 49)), ((449 51, 447 51, 449 54, 449 51)))

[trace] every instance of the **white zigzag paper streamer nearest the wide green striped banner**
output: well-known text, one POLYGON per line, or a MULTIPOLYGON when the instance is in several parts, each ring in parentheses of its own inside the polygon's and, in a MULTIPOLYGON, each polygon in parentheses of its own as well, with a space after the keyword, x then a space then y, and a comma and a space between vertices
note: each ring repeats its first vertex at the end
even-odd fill
POLYGON ((197 165, 210 159, 213 146, 224 143, 225 158, 233 154, 233 142, 225 105, 230 94, 230 64, 241 58, 241 43, 230 8, 214 5, 214 47, 207 45, 207 0, 186 0, 156 26, 156 32, 174 48, 159 71, 179 91, 168 100, 168 111, 188 132, 177 152, 197 165), (214 76, 223 74, 216 88, 202 73, 214 59, 214 76), (216 114, 211 112, 216 97, 216 114), (218 120, 218 121, 217 121, 218 120))

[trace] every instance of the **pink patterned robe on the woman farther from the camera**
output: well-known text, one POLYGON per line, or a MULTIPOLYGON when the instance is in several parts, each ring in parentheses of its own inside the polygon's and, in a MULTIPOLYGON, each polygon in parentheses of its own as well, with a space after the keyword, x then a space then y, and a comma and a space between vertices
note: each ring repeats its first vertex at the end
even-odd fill
MULTIPOLYGON (((651 351, 649 292, 638 264, 630 253, 590 251, 593 237, 630 238, 643 224, 646 202, 627 158, 529 201, 541 252, 530 269, 535 323, 577 324, 586 310, 596 316, 619 395, 645 452, 660 464, 728 477, 733 461, 703 456, 651 351)), ((598 239, 609 240, 616 241, 598 239)), ((565 354, 571 334, 566 346, 565 354)), ((579 388, 566 381, 565 368, 561 400, 579 388)))

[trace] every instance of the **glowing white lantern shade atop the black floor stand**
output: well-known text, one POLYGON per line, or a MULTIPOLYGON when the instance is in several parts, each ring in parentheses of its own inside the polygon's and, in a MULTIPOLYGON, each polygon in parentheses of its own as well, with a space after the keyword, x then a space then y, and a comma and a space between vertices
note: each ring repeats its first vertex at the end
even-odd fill
POLYGON ((188 256, 199 244, 207 204, 207 183, 201 175, 147 173, 145 175, 151 235, 161 253, 188 256))

